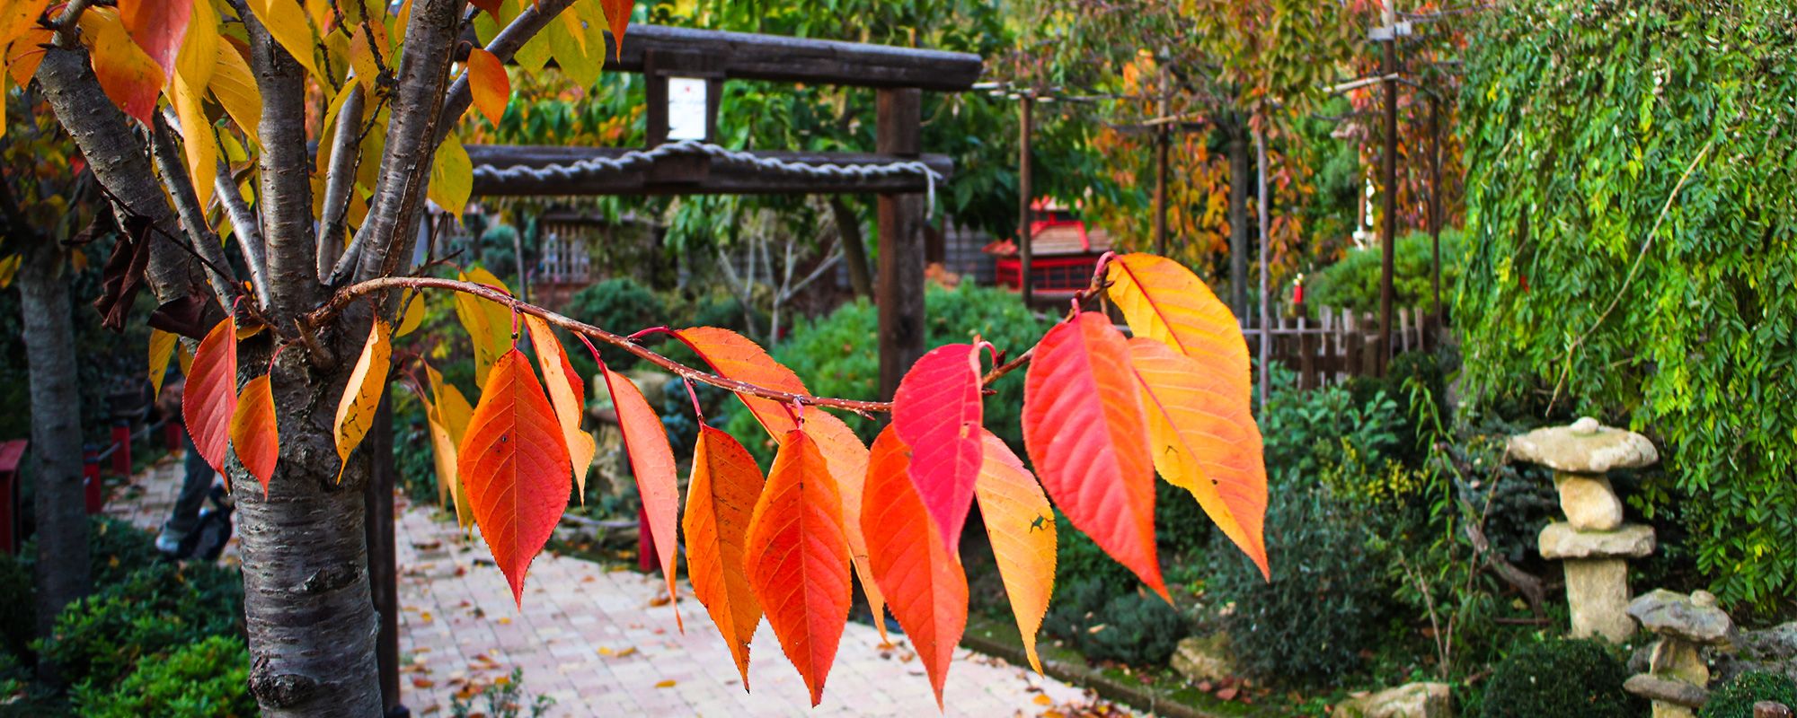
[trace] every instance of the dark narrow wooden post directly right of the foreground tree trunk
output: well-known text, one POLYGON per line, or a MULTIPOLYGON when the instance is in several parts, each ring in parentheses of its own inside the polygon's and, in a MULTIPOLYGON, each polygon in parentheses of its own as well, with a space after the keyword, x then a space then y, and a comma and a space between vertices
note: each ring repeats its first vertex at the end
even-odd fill
POLYGON ((394 485, 399 470, 394 467, 394 393, 381 398, 368 433, 372 461, 368 483, 363 488, 368 540, 368 594, 381 621, 374 643, 374 657, 381 666, 381 709, 395 714, 399 705, 399 565, 394 551, 394 485))

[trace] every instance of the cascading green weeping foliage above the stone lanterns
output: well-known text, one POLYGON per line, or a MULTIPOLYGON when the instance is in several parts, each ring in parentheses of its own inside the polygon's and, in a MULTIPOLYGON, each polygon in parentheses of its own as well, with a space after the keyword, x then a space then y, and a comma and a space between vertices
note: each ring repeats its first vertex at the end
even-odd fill
POLYGON ((1797 9, 1524 0, 1481 18, 1461 95, 1466 388, 1648 433, 1669 486, 1639 508, 1684 513, 1711 591, 1797 596, 1797 106, 1770 101, 1797 95, 1797 9))

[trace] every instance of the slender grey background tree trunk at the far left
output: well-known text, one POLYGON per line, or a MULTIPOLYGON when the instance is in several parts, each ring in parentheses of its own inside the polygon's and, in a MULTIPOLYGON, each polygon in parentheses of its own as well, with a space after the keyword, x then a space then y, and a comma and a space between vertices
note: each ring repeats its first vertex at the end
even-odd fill
POLYGON ((38 461, 38 635, 88 594, 88 517, 81 495, 81 395, 63 251, 50 241, 25 250, 18 273, 31 370, 31 456, 38 461))

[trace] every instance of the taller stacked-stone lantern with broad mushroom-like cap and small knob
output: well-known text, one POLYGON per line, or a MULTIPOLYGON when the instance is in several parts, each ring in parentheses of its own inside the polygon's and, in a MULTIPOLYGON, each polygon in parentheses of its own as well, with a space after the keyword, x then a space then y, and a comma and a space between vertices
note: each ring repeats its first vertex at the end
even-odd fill
POLYGON ((1554 470, 1567 521, 1542 530, 1540 549, 1542 556, 1565 564, 1572 637, 1626 641, 1635 632, 1635 621, 1628 617, 1626 558, 1653 553, 1653 528, 1623 524, 1623 501, 1607 474, 1653 465, 1660 460, 1653 443, 1585 416, 1572 425, 1511 436, 1509 458, 1554 470))

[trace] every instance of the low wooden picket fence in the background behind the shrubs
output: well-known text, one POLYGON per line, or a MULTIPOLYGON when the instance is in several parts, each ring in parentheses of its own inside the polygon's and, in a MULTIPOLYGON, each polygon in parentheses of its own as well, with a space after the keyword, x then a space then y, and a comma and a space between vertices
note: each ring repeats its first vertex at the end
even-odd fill
MULTIPOLYGON (((1297 372, 1297 386, 1312 390, 1339 384, 1348 377, 1378 375, 1378 314, 1317 307, 1317 316, 1278 316, 1272 320, 1272 359, 1297 372)), ((1398 327, 1391 332, 1391 354, 1436 348, 1436 318, 1421 309, 1394 311, 1398 327)), ((1247 350, 1260 352, 1260 328, 1249 327, 1247 350)))

